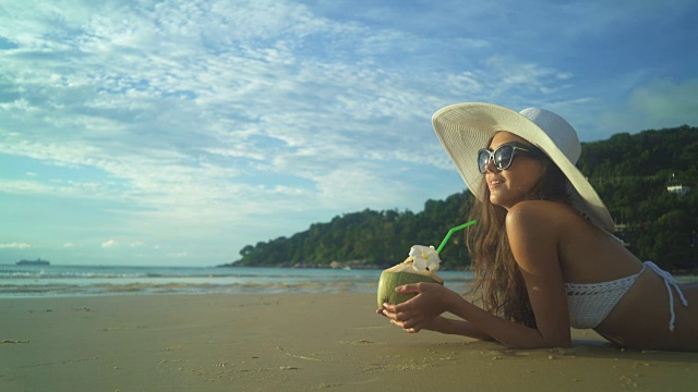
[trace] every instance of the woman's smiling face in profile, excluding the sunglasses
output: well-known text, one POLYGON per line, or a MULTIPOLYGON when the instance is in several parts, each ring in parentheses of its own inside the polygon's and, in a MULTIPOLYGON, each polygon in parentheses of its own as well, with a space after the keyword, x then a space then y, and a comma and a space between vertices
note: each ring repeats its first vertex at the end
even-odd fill
MULTIPOLYGON (((509 142, 530 145, 526 139, 502 131, 494 135, 489 148, 494 151, 509 142)), ((517 155, 512 160, 512 166, 505 170, 497 170, 492 161, 488 163, 485 170, 484 179, 490 188, 490 203, 508 210, 533 189, 545 172, 545 164, 538 159, 517 155)))

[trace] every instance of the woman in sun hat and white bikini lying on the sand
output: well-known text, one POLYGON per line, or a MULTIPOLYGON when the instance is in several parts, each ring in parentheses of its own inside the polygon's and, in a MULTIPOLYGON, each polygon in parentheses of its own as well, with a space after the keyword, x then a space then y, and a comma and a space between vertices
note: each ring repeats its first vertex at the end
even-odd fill
POLYGON ((564 119, 461 103, 436 112, 433 125, 478 198, 467 235, 484 309, 419 283, 397 287, 418 295, 378 314, 407 332, 513 348, 569 346, 573 327, 626 347, 698 351, 698 284, 679 285, 611 234, 613 219, 575 167, 581 147, 564 119))

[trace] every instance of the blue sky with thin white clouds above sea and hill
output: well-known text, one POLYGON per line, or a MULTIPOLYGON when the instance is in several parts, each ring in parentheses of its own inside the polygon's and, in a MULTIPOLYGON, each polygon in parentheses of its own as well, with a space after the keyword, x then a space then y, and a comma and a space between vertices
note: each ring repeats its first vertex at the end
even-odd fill
MULTIPOLYGON (((465 101, 698 125, 695 1, 5 1, 0 264, 213 266, 465 188, 465 101)), ((434 238, 437 242, 440 238, 434 238)), ((409 249, 406 249, 406 252, 409 249)))

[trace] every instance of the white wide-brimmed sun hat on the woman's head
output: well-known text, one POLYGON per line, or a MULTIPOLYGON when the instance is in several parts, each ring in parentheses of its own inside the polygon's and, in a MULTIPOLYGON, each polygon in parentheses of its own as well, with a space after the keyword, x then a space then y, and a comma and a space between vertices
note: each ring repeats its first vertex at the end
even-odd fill
POLYGON ((432 124, 442 145, 472 194, 481 198, 484 175, 478 170, 478 150, 500 131, 525 138, 540 148, 569 181, 571 205, 593 224, 610 233, 615 223, 594 188, 575 167, 581 145, 575 128, 559 115, 529 108, 520 113, 491 103, 458 103, 438 110, 432 124))

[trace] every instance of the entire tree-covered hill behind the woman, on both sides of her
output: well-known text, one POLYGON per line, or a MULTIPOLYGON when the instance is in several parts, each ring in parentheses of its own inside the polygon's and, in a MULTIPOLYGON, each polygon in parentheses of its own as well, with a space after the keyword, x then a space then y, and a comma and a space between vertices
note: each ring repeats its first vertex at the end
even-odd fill
MULTIPOLYGON (((670 270, 698 269, 698 128, 684 125, 585 143, 578 167, 633 253, 670 270)), ((345 213, 290 237, 248 245, 241 259, 226 266, 386 268, 402 261, 412 245, 438 246, 450 228, 466 221, 472 203, 464 191, 428 200, 417 213, 345 213)), ((457 233, 443 249, 445 268, 469 265, 462 240, 457 233)))

